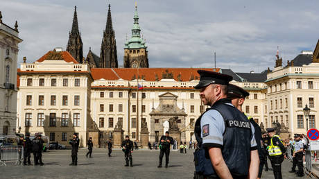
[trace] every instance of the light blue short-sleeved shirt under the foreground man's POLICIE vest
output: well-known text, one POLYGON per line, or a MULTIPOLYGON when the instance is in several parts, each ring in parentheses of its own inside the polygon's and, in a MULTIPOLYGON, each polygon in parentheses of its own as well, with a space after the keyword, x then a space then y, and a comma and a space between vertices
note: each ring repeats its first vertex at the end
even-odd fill
MULTIPOLYGON (((232 105, 231 103, 226 103, 232 105)), ((234 106, 234 105, 232 105, 234 106)), ((251 124, 251 123, 250 123, 251 124)), ((250 148, 256 148, 257 143, 255 139, 255 128, 250 125, 252 135, 250 139, 250 148)), ((200 121, 200 128, 203 130, 200 134, 202 137, 202 144, 209 144, 209 146, 223 146, 223 133, 225 131, 225 121, 217 110, 209 110, 202 115, 200 121)))

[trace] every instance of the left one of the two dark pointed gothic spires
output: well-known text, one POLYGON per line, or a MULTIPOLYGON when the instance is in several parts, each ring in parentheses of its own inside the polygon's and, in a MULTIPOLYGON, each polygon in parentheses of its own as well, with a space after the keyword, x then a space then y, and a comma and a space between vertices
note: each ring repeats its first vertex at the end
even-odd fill
POLYGON ((79 63, 83 62, 83 44, 80 32, 78 31, 78 15, 76 14, 76 6, 74 7, 74 17, 71 32, 69 33, 69 41, 67 42, 67 51, 79 63))

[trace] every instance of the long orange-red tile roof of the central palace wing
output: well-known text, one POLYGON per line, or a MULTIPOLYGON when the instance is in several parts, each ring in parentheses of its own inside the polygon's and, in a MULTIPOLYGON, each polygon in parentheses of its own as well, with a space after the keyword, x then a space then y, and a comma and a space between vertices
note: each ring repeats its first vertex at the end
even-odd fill
POLYGON ((197 71, 199 69, 218 72, 220 69, 208 69, 208 68, 141 68, 138 69, 91 69, 92 76, 94 80, 98 80, 104 78, 106 80, 117 80, 122 78, 123 80, 132 80, 137 78, 137 74, 139 74, 139 78, 144 78, 147 81, 156 81, 162 80, 162 77, 166 74, 173 75, 174 80, 178 81, 180 76, 180 81, 189 81, 193 79, 199 79, 199 74, 197 71), (135 76, 135 78, 134 78, 135 76))

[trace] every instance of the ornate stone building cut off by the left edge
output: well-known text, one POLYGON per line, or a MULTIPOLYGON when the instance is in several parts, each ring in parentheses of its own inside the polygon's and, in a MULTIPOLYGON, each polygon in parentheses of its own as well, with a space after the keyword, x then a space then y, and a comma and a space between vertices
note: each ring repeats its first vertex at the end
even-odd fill
POLYGON ((14 28, 4 24, 0 11, 0 135, 18 132, 17 56, 21 42, 17 21, 14 28))

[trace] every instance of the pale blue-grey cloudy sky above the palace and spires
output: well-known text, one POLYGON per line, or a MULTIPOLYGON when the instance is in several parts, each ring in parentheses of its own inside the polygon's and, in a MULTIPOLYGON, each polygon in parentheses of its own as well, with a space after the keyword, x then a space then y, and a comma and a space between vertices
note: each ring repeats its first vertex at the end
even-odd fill
MULTIPOLYGON (((99 56, 110 0, 0 0, 3 22, 19 24, 18 63, 34 62, 56 46, 66 49, 74 6, 83 40, 99 56)), ((133 24, 133 0, 111 0, 119 65, 126 34, 133 24)), ((138 0, 139 25, 148 45, 150 67, 216 67, 236 72, 264 71, 302 50, 319 37, 318 0, 138 0)))

